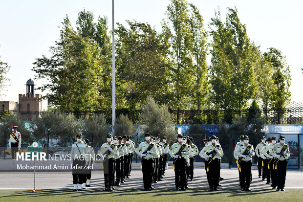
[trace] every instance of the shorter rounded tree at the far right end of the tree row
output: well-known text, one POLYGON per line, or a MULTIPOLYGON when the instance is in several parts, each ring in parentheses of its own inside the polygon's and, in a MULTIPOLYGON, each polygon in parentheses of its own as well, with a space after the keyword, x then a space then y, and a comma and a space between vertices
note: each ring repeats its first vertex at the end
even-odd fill
POLYGON ((264 54, 264 58, 273 67, 272 80, 273 92, 271 107, 276 109, 285 108, 291 99, 289 90, 291 75, 286 57, 277 48, 269 48, 264 54))

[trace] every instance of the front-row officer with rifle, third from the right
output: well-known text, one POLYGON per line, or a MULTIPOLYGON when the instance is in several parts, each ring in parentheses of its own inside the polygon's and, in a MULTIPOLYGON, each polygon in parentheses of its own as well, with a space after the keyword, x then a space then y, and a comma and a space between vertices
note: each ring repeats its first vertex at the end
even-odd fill
POLYGON ((221 157, 220 145, 216 144, 216 136, 211 136, 212 143, 208 144, 203 151, 203 156, 208 158, 209 186, 210 190, 217 191, 219 183, 219 157, 221 157))

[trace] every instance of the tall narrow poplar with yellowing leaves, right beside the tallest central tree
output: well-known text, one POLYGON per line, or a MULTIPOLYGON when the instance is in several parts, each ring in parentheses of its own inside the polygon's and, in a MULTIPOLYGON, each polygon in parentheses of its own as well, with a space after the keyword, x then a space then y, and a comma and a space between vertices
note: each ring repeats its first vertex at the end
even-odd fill
POLYGON ((191 16, 189 23, 192 33, 193 68, 195 69, 195 87, 192 93, 193 103, 200 110, 209 102, 210 85, 208 82, 207 67, 207 32, 204 27, 203 18, 195 5, 190 4, 191 16))

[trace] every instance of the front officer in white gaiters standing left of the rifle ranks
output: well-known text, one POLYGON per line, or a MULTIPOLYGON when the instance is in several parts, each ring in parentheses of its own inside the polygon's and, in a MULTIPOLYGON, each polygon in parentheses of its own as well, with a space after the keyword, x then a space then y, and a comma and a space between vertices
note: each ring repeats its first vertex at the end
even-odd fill
POLYGON ((87 165, 85 158, 85 142, 82 141, 82 134, 76 135, 77 141, 71 146, 71 164, 72 164, 72 175, 73 175, 73 191, 82 191, 82 184, 85 184, 84 180, 84 169, 83 166, 87 165))

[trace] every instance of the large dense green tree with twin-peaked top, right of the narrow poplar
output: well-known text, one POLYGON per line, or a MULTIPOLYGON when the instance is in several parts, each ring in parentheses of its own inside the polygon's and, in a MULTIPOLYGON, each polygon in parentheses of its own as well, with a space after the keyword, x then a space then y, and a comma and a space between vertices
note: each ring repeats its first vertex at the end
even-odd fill
POLYGON ((212 100, 221 109, 242 109, 254 96, 257 47, 250 41, 237 9, 228 8, 226 22, 220 12, 210 23, 212 100))

